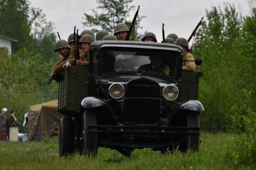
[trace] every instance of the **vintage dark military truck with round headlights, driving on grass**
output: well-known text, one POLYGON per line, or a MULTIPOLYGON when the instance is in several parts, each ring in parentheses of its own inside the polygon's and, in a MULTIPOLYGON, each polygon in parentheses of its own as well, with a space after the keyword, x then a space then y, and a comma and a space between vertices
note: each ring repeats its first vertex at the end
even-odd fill
POLYGON ((182 71, 181 54, 174 44, 91 43, 90 65, 71 66, 59 83, 59 156, 95 156, 99 147, 125 156, 135 148, 199 150, 201 72, 182 71), (153 57, 168 72, 139 71, 153 57))

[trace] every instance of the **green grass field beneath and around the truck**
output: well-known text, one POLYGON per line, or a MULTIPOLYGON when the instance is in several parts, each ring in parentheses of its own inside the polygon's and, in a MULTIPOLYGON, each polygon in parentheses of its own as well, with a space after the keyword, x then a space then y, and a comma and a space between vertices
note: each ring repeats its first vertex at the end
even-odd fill
POLYGON ((234 134, 203 132, 200 151, 161 154, 143 149, 125 157, 115 150, 99 148, 96 158, 78 154, 59 158, 57 138, 41 142, 1 141, 0 169, 234 169, 225 161, 225 154, 237 138, 234 134))

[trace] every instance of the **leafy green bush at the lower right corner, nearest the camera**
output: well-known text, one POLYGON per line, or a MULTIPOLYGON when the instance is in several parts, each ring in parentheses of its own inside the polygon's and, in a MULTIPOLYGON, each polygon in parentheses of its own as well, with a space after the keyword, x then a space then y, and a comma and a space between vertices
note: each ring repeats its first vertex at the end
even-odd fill
MULTIPOLYGON (((246 103, 249 104, 251 93, 246 92, 246 103)), ((233 166, 253 166, 256 168, 256 112, 248 105, 234 105, 236 110, 233 119, 233 128, 239 133, 239 140, 228 148, 226 160, 233 166)))

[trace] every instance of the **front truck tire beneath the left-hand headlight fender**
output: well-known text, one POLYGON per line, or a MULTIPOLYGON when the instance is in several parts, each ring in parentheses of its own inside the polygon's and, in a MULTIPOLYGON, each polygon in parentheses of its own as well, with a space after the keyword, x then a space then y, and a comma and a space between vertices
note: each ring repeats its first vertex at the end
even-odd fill
POLYGON ((84 112, 84 155, 96 156, 97 155, 97 133, 88 132, 88 125, 97 125, 97 114, 92 110, 84 112))

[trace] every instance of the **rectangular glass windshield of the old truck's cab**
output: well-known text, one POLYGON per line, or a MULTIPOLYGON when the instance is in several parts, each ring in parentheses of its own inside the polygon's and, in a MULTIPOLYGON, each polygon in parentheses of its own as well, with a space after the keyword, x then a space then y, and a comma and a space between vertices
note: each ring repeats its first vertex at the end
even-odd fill
POLYGON ((101 74, 139 72, 177 77, 180 53, 171 50, 142 48, 102 48, 101 74))

